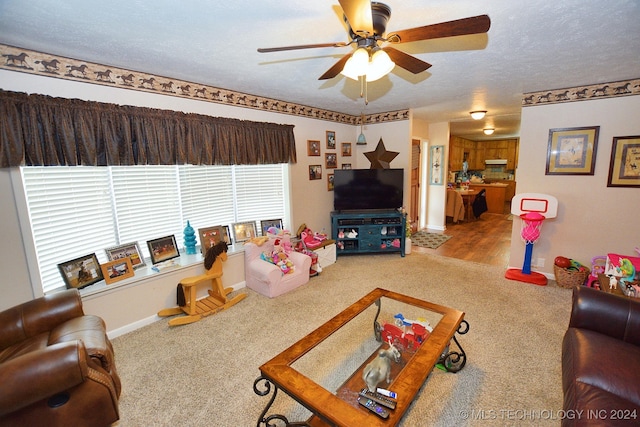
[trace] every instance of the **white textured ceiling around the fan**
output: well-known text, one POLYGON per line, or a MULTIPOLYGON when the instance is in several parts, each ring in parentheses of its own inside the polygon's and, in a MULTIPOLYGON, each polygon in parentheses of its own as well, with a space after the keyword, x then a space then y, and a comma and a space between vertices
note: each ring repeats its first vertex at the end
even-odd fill
POLYGON ((0 0, 0 42, 359 115, 412 108, 454 135, 517 136, 522 94, 640 77, 637 0, 385 0, 387 31, 487 14, 485 35, 397 45, 433 66, 396 67, 368 85, 320 81, 351 47, 258 53, 258 47, 347 42, 337 0, 0 0), (468 112, 488 110, 471 121, 468 112))

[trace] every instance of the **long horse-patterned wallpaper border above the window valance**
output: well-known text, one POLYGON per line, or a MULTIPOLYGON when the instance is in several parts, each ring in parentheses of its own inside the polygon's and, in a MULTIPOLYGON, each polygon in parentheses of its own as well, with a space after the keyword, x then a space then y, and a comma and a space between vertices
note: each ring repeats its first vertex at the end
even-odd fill
MULTIPOLYGON (((192 98, 217 104, 278 112, 292 116, 304 116, 338 123, 360 124, 360 115, 355 116, 337 113, 335 111, 235 92, 229 89, 199 83, 171 79, 155 74, 54 56, 1 43, 0 54, 2 54, 4 58, 4 61, 0 64, 0 68, 10 71, 38 74, 102 86, 119 87, 140 92, 192 98)), ((365 116, 365 124, 408 119, 409 110, 398 110, 365 116)))

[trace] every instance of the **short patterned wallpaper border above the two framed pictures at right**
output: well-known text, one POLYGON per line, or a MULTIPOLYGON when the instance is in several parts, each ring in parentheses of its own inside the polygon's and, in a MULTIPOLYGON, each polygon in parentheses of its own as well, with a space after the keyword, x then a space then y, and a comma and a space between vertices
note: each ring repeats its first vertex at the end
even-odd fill
POLYGON ((528 92, 522 96, 522 106, 531 107, 541 104, 560 104, 629 95, 640 95, 640 79, 528 92))

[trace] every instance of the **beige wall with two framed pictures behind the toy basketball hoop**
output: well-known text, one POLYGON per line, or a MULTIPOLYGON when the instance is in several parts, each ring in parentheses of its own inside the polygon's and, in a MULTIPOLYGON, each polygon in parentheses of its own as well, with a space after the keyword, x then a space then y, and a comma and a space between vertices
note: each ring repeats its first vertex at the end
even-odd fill
MULTIPOLYGON (((640 135, 640 96, 526 107, 522 110, 517 170, 518 193, 558 199, 558 217, 544 222, 533 258, 553 277, 553 260, 562 255, 590 265, 607 253, 635 255, 640 245, 639 188, 607 187, 614 136, 640 135), (593 176, 545 175, 549 129, 600 126, 593 176)), ((525 245, 520 219, 513 221, 509 264, 522 268, 525 245)), ((536 269, 534 269, 536 270, 536 269)))

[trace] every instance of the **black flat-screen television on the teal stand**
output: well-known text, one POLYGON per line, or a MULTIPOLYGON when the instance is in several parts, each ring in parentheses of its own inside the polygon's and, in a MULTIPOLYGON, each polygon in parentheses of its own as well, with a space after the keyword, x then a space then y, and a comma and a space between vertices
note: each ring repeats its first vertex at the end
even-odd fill
POLYGON ((336 169, 336 211, 390 210, 402 207, 404 169, 336 169))

